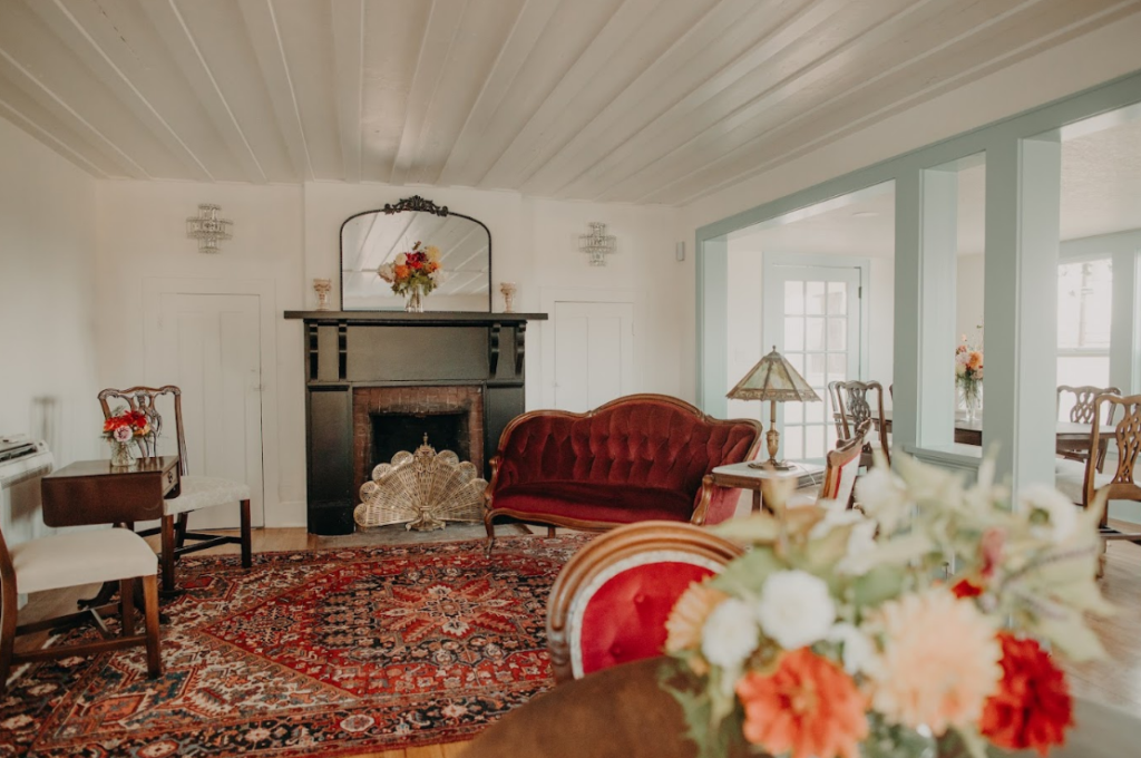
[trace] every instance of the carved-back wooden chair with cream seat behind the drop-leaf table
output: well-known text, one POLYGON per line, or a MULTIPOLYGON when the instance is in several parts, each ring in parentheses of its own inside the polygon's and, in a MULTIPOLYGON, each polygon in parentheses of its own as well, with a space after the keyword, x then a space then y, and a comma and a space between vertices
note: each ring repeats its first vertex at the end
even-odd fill
POLYGON ((162 524, 159 529, 145 530, 139 535, 162 535, 162 589, 163 592, 175 591, 175 562, 187 553, 196 553, 219 545, 240 545, 242 547, 242 566, 252 565, 250 542, 250 487, 242 482, 217 478, 212 476, 192 476, 187 474, 186 435, 183 430, 183 392, 173 385, 164 387, 131 387, 130 389, 104 389, 99 393, 99 404, 104 418, 114 413, 112 401, 123 401, 131 410, 141 411, 151 424, 151 434, 139 437, 139 447, 147 458, 159 454, 159 438, 162 435, 163 418, 156 402, 160 397, 170 396, 175 408, 175 435, 178 440, 178 465, 181 474, 181 493, 177 498, 163 501, 162 524), (191 532, 187 530, 187 517, 192 510, 224 506, 237 502, 241 508, 241 532, 238 537, 191 532), (176 523, 177 521, 177 523, 176 523), (186 545, 192 540, 194 545, 186 545))

